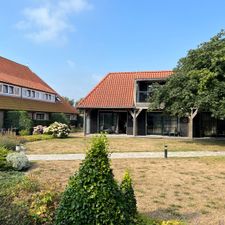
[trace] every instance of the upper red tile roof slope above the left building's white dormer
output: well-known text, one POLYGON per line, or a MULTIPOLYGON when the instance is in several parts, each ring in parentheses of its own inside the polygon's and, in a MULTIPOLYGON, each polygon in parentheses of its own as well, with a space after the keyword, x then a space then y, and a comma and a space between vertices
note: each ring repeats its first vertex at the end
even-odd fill
POLYGON ((56 94, 51 87, 27 66, 3 57, 0 57, 0 82, 56 94))

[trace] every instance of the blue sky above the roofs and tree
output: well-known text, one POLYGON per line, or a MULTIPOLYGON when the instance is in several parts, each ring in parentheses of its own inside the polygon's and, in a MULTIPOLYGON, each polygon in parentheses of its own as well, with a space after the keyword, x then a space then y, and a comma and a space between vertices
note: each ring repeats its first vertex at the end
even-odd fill
POLYGON ((108 72, 172 69, 223 28, 224 0, 7 0, 0 55, 78 100, 108 72))

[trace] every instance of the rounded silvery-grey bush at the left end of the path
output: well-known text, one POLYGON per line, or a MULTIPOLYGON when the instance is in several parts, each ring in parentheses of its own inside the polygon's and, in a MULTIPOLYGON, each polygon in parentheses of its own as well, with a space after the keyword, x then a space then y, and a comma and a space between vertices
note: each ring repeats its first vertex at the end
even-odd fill
POLYGON ((6 157, 6 161, 15 170, 23 170, 30 167, 30 162, 24 152, 9 153, 6 157))

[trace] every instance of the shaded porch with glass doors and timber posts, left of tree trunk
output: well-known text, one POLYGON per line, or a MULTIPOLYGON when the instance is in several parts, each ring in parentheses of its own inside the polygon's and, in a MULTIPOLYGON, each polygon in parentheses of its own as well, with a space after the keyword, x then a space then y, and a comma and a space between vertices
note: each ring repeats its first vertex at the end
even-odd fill
POLYGON ((146 109, 86 109, 84 134, 187 136, 188 121, 146 109))

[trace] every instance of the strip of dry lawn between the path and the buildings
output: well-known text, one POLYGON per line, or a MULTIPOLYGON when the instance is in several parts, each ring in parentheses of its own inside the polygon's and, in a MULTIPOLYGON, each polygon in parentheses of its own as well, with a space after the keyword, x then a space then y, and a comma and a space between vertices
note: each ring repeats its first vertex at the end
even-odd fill
MULTIPOLYGON (((85 153, 90 137, 73 134, 67 139, 51 139, 26 144, 28 154, 85 153)), ((109 137, 111 152, 163 151, 225 151, 225 140, 215 139, 174 139, 149 137, 109 137)))

